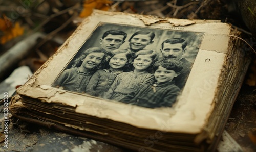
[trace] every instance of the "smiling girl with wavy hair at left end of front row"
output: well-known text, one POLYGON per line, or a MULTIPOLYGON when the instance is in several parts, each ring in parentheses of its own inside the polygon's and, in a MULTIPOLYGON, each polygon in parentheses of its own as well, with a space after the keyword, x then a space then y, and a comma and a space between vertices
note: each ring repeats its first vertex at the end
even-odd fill
POLYGON ((86 86, 95 70, 99 69, 100 64, 105 59, 105 50, 100 47, 93 47, 85 50, 77 58, 72 68, 63 71, 54 82, 53 87, 64 90, 84 93, 86 86))

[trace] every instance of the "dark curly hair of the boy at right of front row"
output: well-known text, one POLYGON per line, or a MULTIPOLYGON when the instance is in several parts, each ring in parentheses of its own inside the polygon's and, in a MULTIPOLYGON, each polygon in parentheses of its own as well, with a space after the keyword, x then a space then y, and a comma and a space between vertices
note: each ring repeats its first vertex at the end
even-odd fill
POLYGON ((155 72, 159 66, 162 66, 167 70, 174 70, 177 73, 183 69, 183 62, 177 59, 162 59, 154 63, 153 71, 155 72))

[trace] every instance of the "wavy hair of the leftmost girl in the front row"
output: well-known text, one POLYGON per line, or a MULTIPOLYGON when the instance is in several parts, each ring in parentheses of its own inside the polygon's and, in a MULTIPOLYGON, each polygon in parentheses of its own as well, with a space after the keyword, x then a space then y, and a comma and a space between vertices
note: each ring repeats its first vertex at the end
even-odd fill
MULTIPOLYGON (((84 50, 84 52, 77 59, 75 59, 74 64, 72 65, 72 68, 80 67, 82 65, 82 62, 83 62, 82 60, 84 58, 86 58, 86 56, 88 56, 90 53, 93 53, 93 52, 99 52, 99 53, 102 52, 102 53, 104 53, 105 49, 101 48, 101 47, 92 47, 92 48, 84 50)), ((103 59, 102 59, 101 63, 104 62, 104 61, 105 61, 105 54, 103 56, 103 59)), ((101 65, 99 64, 94 69, 98 69, 100 66, 101 65)))

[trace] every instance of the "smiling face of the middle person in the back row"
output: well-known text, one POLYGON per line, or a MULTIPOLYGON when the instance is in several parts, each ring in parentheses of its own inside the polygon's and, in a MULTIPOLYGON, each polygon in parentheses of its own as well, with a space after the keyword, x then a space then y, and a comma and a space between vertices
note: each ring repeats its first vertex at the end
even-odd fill
POLYGON ((130 40, 130 48, 132 50, 138 51, 146 47, 146 45, 151 44, 153 41, 151 41, 151 37, 145 34, 138 34, 135 35, 130 40))

